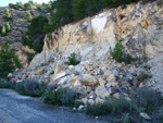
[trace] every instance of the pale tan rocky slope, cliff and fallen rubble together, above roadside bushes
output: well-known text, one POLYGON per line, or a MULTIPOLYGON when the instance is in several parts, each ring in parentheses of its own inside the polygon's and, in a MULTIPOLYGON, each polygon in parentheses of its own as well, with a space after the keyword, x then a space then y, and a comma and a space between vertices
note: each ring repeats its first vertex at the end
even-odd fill
POLYGON ((163 3, 131 3, 71 23, 45 38, 43 51, 29 66, 12 74, 12 81, 37 78, 49 85, 71 87, 84 103, 126 96, 138 87, 163 93, 163 3), (110 48, 116 42, 131 57, 131 64, 116 62, 110 48), (71 53, 77 65, 68 65, 71 53), (146 59, 145 59, 146 58, 146 59))

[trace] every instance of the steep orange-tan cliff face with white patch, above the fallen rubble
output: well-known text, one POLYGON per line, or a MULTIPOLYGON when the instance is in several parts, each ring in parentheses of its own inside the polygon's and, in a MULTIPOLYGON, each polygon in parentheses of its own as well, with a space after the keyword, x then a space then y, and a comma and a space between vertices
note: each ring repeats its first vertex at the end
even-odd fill
POLYGON ((104 10, 92 17, 71 23, 45 38, 43 50, 79 53, 82 58, 103 57, 122 40, 133 56, 163 52, 163 4, 161 1, 133 3, 126 9, 104 10))

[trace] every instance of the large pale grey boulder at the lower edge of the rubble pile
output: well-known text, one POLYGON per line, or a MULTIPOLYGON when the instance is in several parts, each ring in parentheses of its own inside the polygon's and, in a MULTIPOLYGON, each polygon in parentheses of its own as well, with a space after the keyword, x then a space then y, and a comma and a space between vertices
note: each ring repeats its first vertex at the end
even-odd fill
POLYGON ((102 99, 105 99, 105 98, 108 98, 109 96, 110 96, 110 94, 109 94, 109 91, 106 90, 106 88, 105 87, 103 87, 103 86, 98 86, 97 88, 96 88, 96 95, 98 96, 98 97, 101 97, 102 99))

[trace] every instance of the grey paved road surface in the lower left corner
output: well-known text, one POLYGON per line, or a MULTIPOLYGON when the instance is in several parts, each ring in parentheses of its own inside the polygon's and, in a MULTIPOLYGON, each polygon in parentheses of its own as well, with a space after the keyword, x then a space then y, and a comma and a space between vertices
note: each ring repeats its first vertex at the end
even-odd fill
POLYGON ((0 123, 105 123, 85 113, 42 103, 38 98, 0 89, 0 123))

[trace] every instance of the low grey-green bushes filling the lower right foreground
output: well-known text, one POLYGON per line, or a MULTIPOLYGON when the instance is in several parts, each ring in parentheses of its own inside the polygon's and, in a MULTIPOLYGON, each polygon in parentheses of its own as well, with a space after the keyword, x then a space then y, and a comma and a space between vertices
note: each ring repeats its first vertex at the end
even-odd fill
POLYGON ((86 113, 91 115, 110 115, 112 119, 120 120, 122 123, 139 123, 145 122, 140 116, 140 112, 153 114, 158 121, 162 120, 163 97, 159 91, 150 88, 139 88, 130 95, 131 100, 127 101, 123 97, 115 99, 109 97, 103 103, 87 104, 86 113), (158 113, 158 116, 155 115, 158 113), (123 115, 123 116, 122 116, 123 115))

